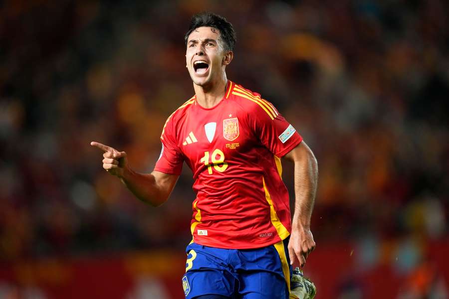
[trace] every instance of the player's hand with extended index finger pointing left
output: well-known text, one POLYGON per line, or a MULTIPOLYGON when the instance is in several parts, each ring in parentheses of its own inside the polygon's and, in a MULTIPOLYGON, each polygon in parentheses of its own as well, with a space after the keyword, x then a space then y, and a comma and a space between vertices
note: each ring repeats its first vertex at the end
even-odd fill
POLYGON ((128 170, 128 159, 126 158, 126 152, 118 151, 117 149, 105 146, 95 141, 91 142, 90 145, 104 151, 103 168, 110 174, 122 178, 124 172, 128 170))

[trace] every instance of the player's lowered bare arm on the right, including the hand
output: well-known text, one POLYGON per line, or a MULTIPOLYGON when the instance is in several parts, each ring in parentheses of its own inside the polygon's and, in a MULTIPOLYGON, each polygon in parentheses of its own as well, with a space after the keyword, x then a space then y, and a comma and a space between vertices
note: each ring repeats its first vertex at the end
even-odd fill
POLYGON ((309 253, 315 248, 310 218, 318 183, 318 164, 309 147, 302 141, 285 157, 294 162, 295 208, 288 243, 291 264, 303 267, 309 253))

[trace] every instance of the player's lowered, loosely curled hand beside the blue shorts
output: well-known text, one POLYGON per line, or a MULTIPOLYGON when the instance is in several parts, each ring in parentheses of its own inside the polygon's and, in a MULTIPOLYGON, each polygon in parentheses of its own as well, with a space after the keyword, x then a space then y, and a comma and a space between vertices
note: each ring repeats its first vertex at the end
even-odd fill
POLYGON ((315 241, 310 229, 293 228, 288 242, 288 254, 293 267, 304 267, 308 255, 315 249, 315 241))

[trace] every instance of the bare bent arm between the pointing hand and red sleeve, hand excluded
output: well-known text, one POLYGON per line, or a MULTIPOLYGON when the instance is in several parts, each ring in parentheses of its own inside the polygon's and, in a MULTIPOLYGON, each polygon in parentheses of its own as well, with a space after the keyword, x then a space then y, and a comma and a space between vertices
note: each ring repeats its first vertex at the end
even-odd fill
POLYGON ((178 178, 179 175, 160 171, 139 173, 127 168, 120 180, 138 199, 156 207, 168 199, 178 178))

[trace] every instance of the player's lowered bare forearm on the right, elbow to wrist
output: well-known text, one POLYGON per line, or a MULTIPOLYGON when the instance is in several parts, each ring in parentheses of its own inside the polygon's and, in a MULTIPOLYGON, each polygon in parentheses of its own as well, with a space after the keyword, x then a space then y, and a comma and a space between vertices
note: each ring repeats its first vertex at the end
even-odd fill
POLYGON ((312 151, 307 147, 307 154, 294 161, 295 208, 292 226, 310 228, 318 184, 318 163, 312 151))

